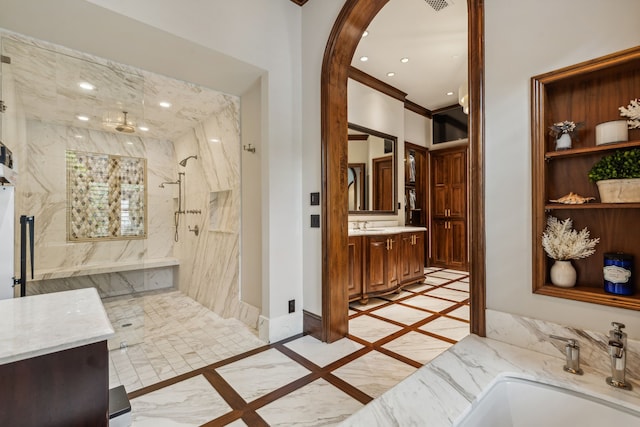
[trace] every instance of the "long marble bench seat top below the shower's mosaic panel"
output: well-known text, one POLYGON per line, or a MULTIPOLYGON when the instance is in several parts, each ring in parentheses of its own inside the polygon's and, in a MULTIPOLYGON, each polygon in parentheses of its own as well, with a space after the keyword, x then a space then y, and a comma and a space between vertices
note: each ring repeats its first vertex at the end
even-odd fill
POLYGON ((93 274, 119 273, 124 271, 148 270, 152 268, 173 267, 180 265, 177 258, 155 258, 131 261, 105 262, 85 264, 72 267, 58 267, 36 270, 33 281, 49 279, 65 279, 68 277, 89 276, 93 274))

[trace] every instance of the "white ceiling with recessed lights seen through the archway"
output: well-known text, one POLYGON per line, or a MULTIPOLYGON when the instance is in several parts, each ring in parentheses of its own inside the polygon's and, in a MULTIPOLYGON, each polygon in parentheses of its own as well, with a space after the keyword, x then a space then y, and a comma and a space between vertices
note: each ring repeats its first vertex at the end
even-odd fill
POLYGON ((467 81, 467 2, 442 1, 448 6, 436 12, 425 0, 390 0, 369 25, 352 61, 432 111, 456 104, 458 88, 467 81), (369 60, 361 62, 361 56, 369 60), (401 63, 403 57, 409 62, 401 63), (395 76, 387 77, 390 71, 395 76))

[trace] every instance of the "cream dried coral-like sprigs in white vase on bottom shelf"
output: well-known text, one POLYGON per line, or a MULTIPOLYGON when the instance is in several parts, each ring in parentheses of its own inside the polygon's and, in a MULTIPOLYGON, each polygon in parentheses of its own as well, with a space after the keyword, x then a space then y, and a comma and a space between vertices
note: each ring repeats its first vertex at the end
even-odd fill
POLYGON ((580 232, 574 230, 571 218, 560 221, 551 215, 547 217, 547 228, 542 233, 544 251, 550 258, 559 261, 587 258, 595 253, 599 241, 599 237, 589 239, 586 227, 580 232))

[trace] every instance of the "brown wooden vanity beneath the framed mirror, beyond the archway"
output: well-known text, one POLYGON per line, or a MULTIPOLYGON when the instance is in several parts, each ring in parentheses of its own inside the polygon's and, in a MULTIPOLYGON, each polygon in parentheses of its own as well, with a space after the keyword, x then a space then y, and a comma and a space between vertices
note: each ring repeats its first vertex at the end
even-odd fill
POLYGON ((349 301, 398 292, 424 280, 424 227, 349 230, 349 301))

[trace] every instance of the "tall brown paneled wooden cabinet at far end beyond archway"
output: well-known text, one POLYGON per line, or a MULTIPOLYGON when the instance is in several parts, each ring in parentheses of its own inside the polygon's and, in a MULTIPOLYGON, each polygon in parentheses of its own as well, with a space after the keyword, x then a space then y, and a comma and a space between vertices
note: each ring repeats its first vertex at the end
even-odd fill
POLYGON ((466 270, 467 148, 430 151, 431 245, 429 265, 466 270))

